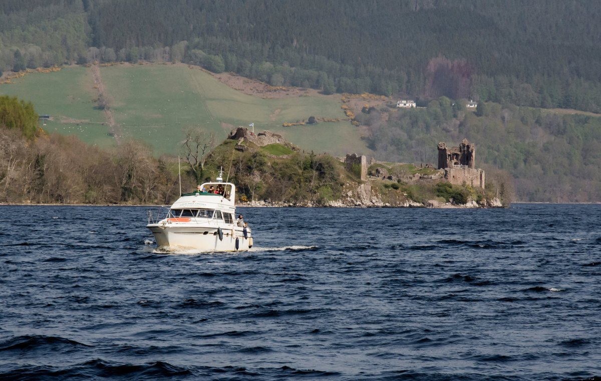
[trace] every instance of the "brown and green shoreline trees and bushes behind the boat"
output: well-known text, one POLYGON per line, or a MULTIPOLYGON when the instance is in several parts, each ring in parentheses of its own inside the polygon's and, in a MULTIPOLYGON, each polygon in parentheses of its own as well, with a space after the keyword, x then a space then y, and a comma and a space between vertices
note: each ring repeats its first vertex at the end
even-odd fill
MULTIPOLYGON (((24 115, 24 120, 37 115, 31 105, 23 106, 16 98, 0 100, 27 109, 27 113, 16 113, 24 115)), ((2 110, 0 120, 7 120, 2 110)), ((0 123, 0 203, 169 204, 178 197, 175 157, 153 157, 151 148, 137 141, 102 150, 75 136, 47 135, 41 129, 26 135, 30 129, 23 125, 0 123)), ((214 136, 191 130, 189 141, 183 144, 183 150, 190 152, 189 170, 182 171, 182 189, 195 189, 198 183, 215 178, 218 168, 225 169, 228 163, 228 179, 237 184, 242 201, 327 205, 341 200, 345 187, 356 188, 360 183, 326 153, 290 151, 282 156, 279 151, 272 154, 269 146, 254 144, 240 152, 231 139, 218 147, 214 144, 214 136)), ((398 186, 387 189, 397 192, 399 200, 407 197, 398 186)))

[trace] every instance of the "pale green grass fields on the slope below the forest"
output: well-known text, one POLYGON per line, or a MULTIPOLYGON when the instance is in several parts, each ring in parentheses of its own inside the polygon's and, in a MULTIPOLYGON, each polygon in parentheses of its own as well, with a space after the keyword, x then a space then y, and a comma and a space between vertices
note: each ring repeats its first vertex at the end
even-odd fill
MULTIPOLYGON (((116 65, 100 67, 115 123, 122 138, 147 142, 154 154, 177 154, 184 131, 201 127, 225 139, 231 127, 254 123, 255 132, 270 130, 305 150, 369 153, 349 121, 282 127, 282 123, 344 117, 339 96, 262 99, 233 90, 209 73, 186 65, 116 65)), ((0 85, 1 95, 34 104, 52 120, 48 132, 77 135, 82 141, 108 147, 115 144, 98 97, 91 69, 66 67, 55 73, 33 73, 0 85)))

